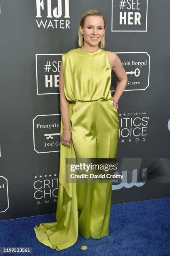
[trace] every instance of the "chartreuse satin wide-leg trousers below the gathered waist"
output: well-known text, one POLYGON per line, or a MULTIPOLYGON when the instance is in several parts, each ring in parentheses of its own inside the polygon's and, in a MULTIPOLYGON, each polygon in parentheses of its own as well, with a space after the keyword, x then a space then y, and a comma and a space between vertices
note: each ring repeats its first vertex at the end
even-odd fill
MULTIPOLYGON (((119 121, 111 100, 75 102, 71 117, 77 158, 115 158, 119 121)), ((112 182, 77 183, 79 233, 85 238, 109 234, 112 182)))

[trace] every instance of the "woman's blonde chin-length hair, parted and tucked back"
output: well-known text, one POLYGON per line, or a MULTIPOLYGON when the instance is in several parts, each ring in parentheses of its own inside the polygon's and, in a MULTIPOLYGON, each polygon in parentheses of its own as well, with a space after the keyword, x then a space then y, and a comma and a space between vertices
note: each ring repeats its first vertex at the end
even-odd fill
POLYGON ((103 21, 104 21, 104 34, 103 34, 103 37, 102 37, 102 40, 100 41, 99 43, 99 48, 104 48, 105 47, 105 28, 106 28, 106 23, 105 23, 105 18, 104 16, 102 15, 102 13, 100 13, 100 11, 98 10, 88 10, 87 12, 83 13, 81 19, 80 19, 80 22, 79 22, 79 26, 78 26, 78 45, 80 47, 83 46, 84 44, 84 38, 83 38, 83 35, 80 33, 80 26, 83 28, 84 27, 84 24, 85 24, 85 18, 87 16, 100 16, 103 21))

